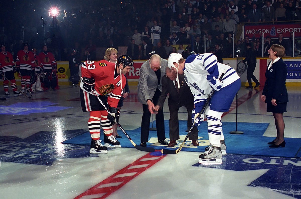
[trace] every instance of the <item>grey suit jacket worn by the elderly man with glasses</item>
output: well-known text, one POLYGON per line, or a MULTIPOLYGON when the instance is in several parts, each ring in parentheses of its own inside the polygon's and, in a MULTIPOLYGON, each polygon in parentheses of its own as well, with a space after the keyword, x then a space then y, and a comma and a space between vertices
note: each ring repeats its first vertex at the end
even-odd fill
POLYGON ((158 85, 158 78, 156 73, 151 69, 149 60, 144 62, 140 68, 140 78, 138 82, 138 100, 142 104, 147 104, 147 99, 152 99, 156 89, 162 91, 162 77, 165 75, 167 67, 167 60, 161 58, 161 79, 158 85))

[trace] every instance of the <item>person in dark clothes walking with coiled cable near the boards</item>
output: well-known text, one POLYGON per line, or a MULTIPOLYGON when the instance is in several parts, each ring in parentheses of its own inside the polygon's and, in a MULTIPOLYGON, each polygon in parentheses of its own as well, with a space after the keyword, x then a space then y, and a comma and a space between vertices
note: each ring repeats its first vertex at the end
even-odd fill
POLYGON ((253 88, 252 85, 252 81, 251 79, 253 79, 253 81, 256 83, 255 88, 258 87, 260 85, 259 81, 256 79, 255 75, 253 74, 256 68, 256 54, 255 51, 253 51, 252 49, 252 44, 251 43, 247 43, 246 44, 247 47, 247 52, 246 52, 246 58, 240 62, 247 62, 248 64, 248 69, 247 69, 247 80, 249 83, 249 86, 246 87, 248 88, 253 88))

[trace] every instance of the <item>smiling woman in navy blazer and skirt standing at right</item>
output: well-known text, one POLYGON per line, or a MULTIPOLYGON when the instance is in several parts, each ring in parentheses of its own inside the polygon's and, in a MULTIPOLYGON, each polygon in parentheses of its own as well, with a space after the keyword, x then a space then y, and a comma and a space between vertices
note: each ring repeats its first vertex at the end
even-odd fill
POLYGON ((272 112, 275 118, 277 136, 272 142, 268 142, 271 148, 285 147, 283 113, 286 112, 288 102, 285 79, 287 67, 281 59, 285 54, 285 48, 279 44, 273 44, 268 50, 268 57, 272 61, 265 72, 265 85, 261 99, 267 104, 266 111, 272 112))

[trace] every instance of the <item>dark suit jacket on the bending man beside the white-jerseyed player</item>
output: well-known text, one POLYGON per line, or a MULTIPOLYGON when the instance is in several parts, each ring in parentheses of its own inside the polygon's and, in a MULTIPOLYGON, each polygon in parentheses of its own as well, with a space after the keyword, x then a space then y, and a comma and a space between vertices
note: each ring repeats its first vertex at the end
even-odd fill
POLYGON ((157 105, 163 107, 166 96, 169 93, 168 105, 170 106, 185 106, 191 109, 194 108, 194 97, 189 86, 185 82, 184 75, 179 75, 180 91, 177 92, 175 84, 166 75, 162 77, 162 92, 157 105))

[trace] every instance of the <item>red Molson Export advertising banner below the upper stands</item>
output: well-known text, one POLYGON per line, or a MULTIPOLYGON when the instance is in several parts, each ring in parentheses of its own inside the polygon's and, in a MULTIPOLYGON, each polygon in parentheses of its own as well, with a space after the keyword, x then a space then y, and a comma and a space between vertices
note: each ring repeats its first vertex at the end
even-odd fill
POLYGON ((291 32, 295 32, 295 37, 301 37, 301 24, 244 26, 244 34, 249 38, 256 33, 263 33, 264 37, 269 35, 271 38, 278 38, 278 34, 282 33, 285 38, 289 38, 291 32))

